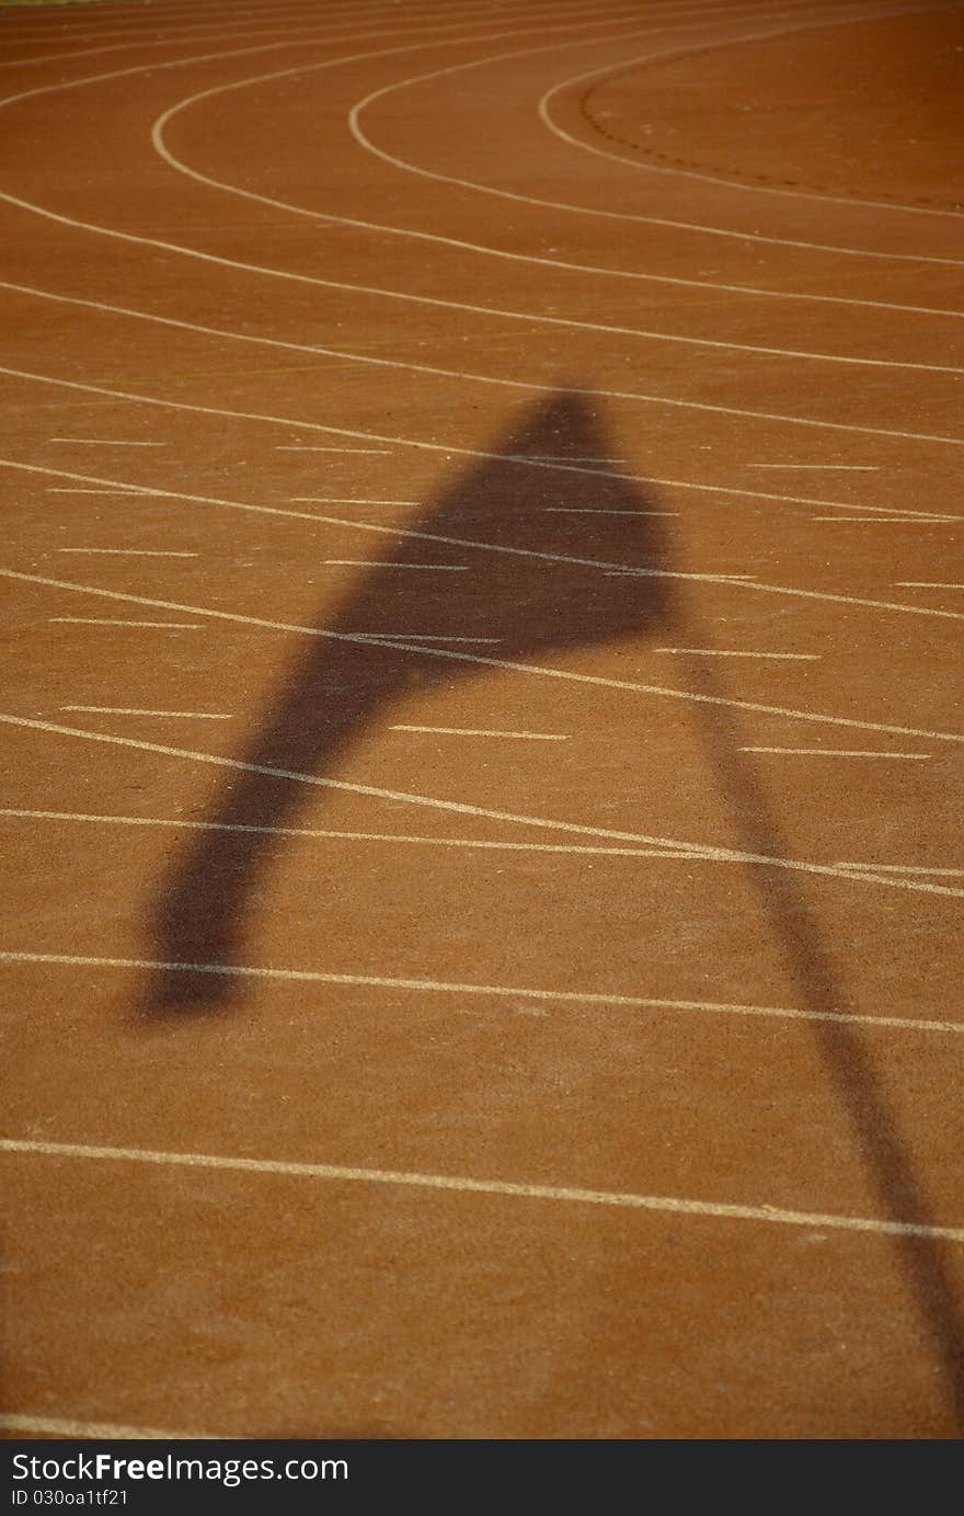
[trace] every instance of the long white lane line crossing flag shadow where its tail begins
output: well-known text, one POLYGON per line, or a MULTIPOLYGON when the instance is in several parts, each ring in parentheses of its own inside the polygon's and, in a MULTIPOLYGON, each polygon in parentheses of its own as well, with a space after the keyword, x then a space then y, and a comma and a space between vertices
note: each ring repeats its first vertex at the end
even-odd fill
MULTIPOLYGON (((450 647, 427 647, 424 643, 402 643, 385 638, 359 635, 358 632, 332 632, 318 626, 300 626, 293 622, 271 622, 259 615, 243 615, 239 611, 218 611, 212 606, 185 605, 179 600, 159 600, 153 596, 129 594, 121 590, 102 590, 97 585, 76 584, 70 579, 50 579, 45 575, 20 573, 14 568, 0 568, 0 578, 18 579, 24 584, 42 584, 53 590, 71 590, 77 594, 92 594, 102 600, 123 600, 126 605, 150 605, 161 611, 186 611, 192 615, 209 615, 215 620, 236 622, 241 626, 264 626, 273 632, 299 632, 302 637, 320 637, 340 643, 364 643, 367 646, 390 646, 402 652, 430 653, 433 658, 447 658, 453 662, 476 664, 482 669, 511 669, 514 673, 534 675, 543 679, 565 679, 573 684, 590 684, 605 690, 629 690, 634 694, 656 694, 673 700, 690 700, 700 705, 726 705, 740 711, 762 711, 765 716, 782 716, 790 720, 812 722, 815 725, 847 726, 864 732, 887 732, 897 737, 929 737, 935 741, 964 743, 961 732, 940 732, 917 726, 897 726, 881 722, 861 722, 852 716, 826 716, 818 711, 802 711, 788 705, 764 705, 758 700, 735 700, 728 696, 699 694, 693 690, 674 690, 671 685, 641 684, 629 679, 606 679, 602 675, 576 673, 570 669, 550 669, 543 664, 515 662, 509 658, 487 658, 482 653, 462 653, 450 647)), ((753 585, 752 588, 756 588, 753 585)), ((947 614, 947 612, 941 612, 947 614)))

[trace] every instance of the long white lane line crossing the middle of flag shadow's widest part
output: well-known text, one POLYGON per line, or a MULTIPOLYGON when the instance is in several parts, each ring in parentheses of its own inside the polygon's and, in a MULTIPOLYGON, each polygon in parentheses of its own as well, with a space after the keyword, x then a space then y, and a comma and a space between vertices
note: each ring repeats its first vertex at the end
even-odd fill
MULTIPOLYGON (((0 283, 2 283, 2 280, 0 280, 0 283)), ((5 370, 3 367, 0 367, 0 373, 8 373, 8 371, 9 370, 5 370)), ((71 385, 71 388, 73 388, 73 385, 71 385)), ((89 388, 89 387, 85 385, 83 388, 89 388)), ((130 397, 127 397, 127 399, 130 399, 130 397)), ((177 402, 173 402, 173 403, 176 405, 177 402)), ((203 409, 203 408, 202 406, 191 406, 191 409, 203 409)), ((256 417, 252 417, 252 418, 256 420, 256 417)), ((444 447, 441 447, 440 444, 435 444, 435 443, 411 443, 411 446, 412 447, 426 447, 426 449, 430 449, 432 452, 449 452, 447 449, 444 449, 444 447)), ((497 462, 503 461, 503 459, 500 459, 499 453, 485 453, 485 452, 480 452, 480 450, 476 452, 474 449, 452 449, 452 450, 458 452, 458 453, 462 453, 465 456, 471 456, 471 458, 494 459, 497 462)), ((39 464, 23 464, 23 462, 14 461, 12 458, 0 458, 0 467, 2 468, 17 468, 17 470, 21 470, 24 473, 56 475, 61 479, 86 479, 86 481, 91 481, 91 482, 99 482, 99 484, 114 482, 114 481, 97 479, 95 475, 79 475, 79 473, 73 473, 73 471, 65 470, 65 468, 52 468, 49 465, 39 465, 39 464)), ((559 465, 556 464, 556 465, 544 465, 544 467, 559 467, 559 465)), ((571 471, 573 473, 579 473, 577 468, 571 470, 571 471)), ((647 481, 644 481, 644 479, 640 481, 640 484, 646 484, 646 482, 647 481)), ((671 484, 671 481, 653 481, 653 482, 671 484)), ((412 531, 409 528, 400 528, 400 526, 377 526, 373 522, 350 522, 350 520, 346 520, 344 517, 338 517, 338 515, 320 515, 318 512, 314 512, 314 511, 288 511, 288 509, 283 509, 282 506, 274 506, 274 505, 250 505, 250 503, 247 503, 244 500, 226 500, 221 496, 185 494, 182 490, 156 490, 156 488, 149 487, 149 485, 133 485, 130 488, 133 488, 135 493, 138 493, 138 494, 150 496, 150 497, 156 497, 156 499, 162 499, 162 500, 164 499, 189 500, 194 505, 217 505, 217 506, 221 506, 221 508, 229 509, 229 511, 249 511, 249 512, 253 512, 256 515, 294 517, 296 520, 303 520, 303 522, 315 522, 315 523, 320 522, 320 523, 323 523, 326 526, 350 526, 356 532, 376 532, 376 534, 382 534, 383 537, 411 537, 411 538, 417 538, 418 541, 444 543, 446 546, 450 546, 450 547, 473 547, 473 549, 480 549, 480 550, 490 552, 490 553, 509 553, 511 556, 515 556, 515 558, 534 558, 534 559, 538 559, 540 562, 577 564, 577 565, 581 565, 584 568, 600 568, 600 570, 603 570, 606 573, 628 573, 628 575, 637 575, 637 576, 655 578, 655 579, 681 579, 681 581, 684 581, 684 579, 693 579, 693 581, 700 582, 700 584, 731 584, 734 581, 740 581, 740 582, 744 582, 747 588, 759 590, 764 594, 778 594, 778 596, 784 594, 784 596, 790 596, 790 597, 794 597, 794 599, 803 599, 803 600, 825 600, 825 602, 829 602, 832 605, 862 605, 862 606, 867 606, 867 608, 875 609, 875 611, 899 611, 899 612, 903 612, 905 615, 926 615, 926 617, 938 617, 941 620, 964 620, 964 612, 961 612, 961 611, 944 611, 944 609, 937 609, 935 606, 931 606, 931 605, 912 605, 912 603, 906 605, 906 603, 903 603, 900 600, 872 600, 872 599, 869 599, 865 596, 832 594, 832 593, 829 593, 826 590, 802 590, 802 588, 797 588, 794 585, 767 584, 767 582, 759 582, 756 579, 756 575, 747 575, 747 573, 717 573, 717 575, 706 575, 706 573, 684 573, 682 570, 674 570, 674 568, 640 568, 640 567, 637 567, 637 568, 628 568, 626 565, 615 565, 615 564, 606 562, 606 559, 600 559, 600 558, 573 558, 573 556, 565 555, 565 553, 537 552, 532 547, 511 547, 506 543, 487 543, 487 541, 479 541, 477 538, 471 538, 471 537, 468 537, 468 538, 467 537, 443 537, 438 532, 417 532, 417 531, 412 531)), ((694 485, 694 488, 700 488, 700 487, 694 485)), ((191 555, 191 556, 197 556, 197 555, 191 555)), ((179 606, 179 609, 183 609, 183 606, 179 606)))

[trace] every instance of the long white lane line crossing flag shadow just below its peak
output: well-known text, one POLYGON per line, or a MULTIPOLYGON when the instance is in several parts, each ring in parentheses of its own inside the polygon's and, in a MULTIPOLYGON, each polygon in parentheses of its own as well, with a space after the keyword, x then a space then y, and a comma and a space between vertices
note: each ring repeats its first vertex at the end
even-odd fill
MULTIPOLYGON (((5 288, 3 280, 0 280, 0 288, 5 288)), ((14 285, 8 288, 24 288, 24 287, 14 285)), ((42 294, 44 291, 38 290, 29 293, 42 294)), ((49 299, 67 300, 68 297, 49 296, 49 299)), ((74 302, 70 300, 68 303, 73 305, 74 302)), ((262 412, 262 411, 230 411, 223 406, 192 405, 188 400, 164 400, 159 396, 138 394, 130 390, 111 390, 106 388, 105 385, 82 384, 79 379, 56 379, 52 374, 36 374, 30 373, 26 368, 9 368, 2 364, 0 364, 0 374, 9 374, 14 379, 27 379, 32 384, 47 384, 64 390, 79 390, 85 394, 102 394, 114 400, 129 400, 135 405, 155 405, 155 406, 162 406, 164 409, 168 411, 188 411, 191 414, 199 414, 199 415, 223 415, 227 417, 229 420, 236 420, 236 421, 265 421, 270 426, 286 426, 300 431, 321 432, 327 437, 352 437, 364 441, 391 443, 393 446, 399 447, 414 447, 421 452, 443 453, 447 458, 458 456, 458 458, 480 458, 493 462, 515 462, 524 468, 556 468, 561 470, 562 473, 579 473, 579 475, 588 475, 590 478, 602 478, 602 479, 623 479, 631 484, 641 484, 641 485, 665 485, 667 488, 671 490, 694 490, 700 494, 734 494, 752 500, 778 500, 781 503, 793 503, 793 505, 823 505, 823 506, 832 506, 834 509, 840 511, 853 509, 853 506, 844 500, 822 500, 805 494, 775 494, 772 490, 741 490, 737 488, 735 485, 696 484, 691 479, 665 479, 661 478, 659 475, 629 475, 612 468, 591 468, 582 464, 565 464, 559 459, 552 461, 547 458, 515 456, 506 459, 503 453, 487 452, 485 449, 480 447, 458 447, 455 444, 446 444, 446 443, 426 443, 426 441, 418 441, 417 438, 412 437, 396 437, 383 432, 359 432, 344 426, 324 426, 321 421, 300 421, 293 417, 271 415, 270 412, 262 412)), ((124 485, 123 488, 136 490, 136 485, 124 485)), ((861 506, 861 509, 887 511, 890 514, 891 509, 897 508, 861 506)), ((897 511, 897 514, 902 512, 897 511)), ((955 517, 955 520, 961 520, 961 517, 955 517)), ((721 575, 720 578, 729 584, 734 576, 721 575)), ((931 614, 926 611, 925 606, 899 605, 896 602, 891 603, 882 600, 881 602, 862 600, 852 596, 835 596, 834 599, 843 600, 847 605, 872 605, 890 611, 915 611, 919 614, 931 614)), ((946 612, 935 612, 935 614, 946 614, 946 612)), ((949 612, 949 614, 958 614, 958 612, 949 612)))

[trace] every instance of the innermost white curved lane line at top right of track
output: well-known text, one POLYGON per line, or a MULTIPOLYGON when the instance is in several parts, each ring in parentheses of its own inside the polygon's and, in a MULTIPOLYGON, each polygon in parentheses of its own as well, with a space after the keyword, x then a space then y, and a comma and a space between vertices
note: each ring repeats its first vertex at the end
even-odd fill
MULTIPOLYGON (((903 14, 917 15, 922 11, 925 14, 929 14, 932 11, 941 11, 941 9, 947 9, 947 6, 940 6, 940 5, 920 6, 914 11, 906 11, 903 14)), ((894 12, 890 12, 884 18, 890 18, 890 15, 893 14, 894 12)), ((840 27, 840 26, 855 26, 859 24, 861 21, 873 23, 875 20, 881 20, 881 17, 864 15, 864 17, 847 17, 846 20, 805 21, 802 26, 770 27, 765 32, 753 32, 747 36, 726 38, 714 42, 705 42, 700 44, 699 50, 702 53, 718 52, 720 49, 726 47, 743 47, 746 42, 759 42, 768 38, 793 36, 797 32, 829 30, 832 27, 840 27)), ((896 203, 893 200, 864 200, 858 196, 822 194, 815 190, 785 190, 778 185, 755 185, 755 183, 746 183, 744 180, 740 179, 726 179, 723 174, 700 173, 699 170, 694 168, 670 168, 661 164, 641 162, 638 158, 626 158, 624 153, 614 153, 609 149, 596 147, 591 143, 581 141, 581 138, 577 136, 571 136, 571 133, 567 132, 564 127, 561 127, 556 121, 553 121, 550 115, 549 105, 552 99, 561 94, 564 89, 570 89, 573 85, 582 83, 585 79, 599 79, 603 74, 629 73, 634 67, 638 67, 640 64, 653 62, 656 58, 662 58, 668 62, 673 58, 681 58, 681 56, 685 58, 688 52, 690 49, 676 47, 667 50, 665 53, 643 53, 640 58, 631 58, 615 65, 609 64, 605 65, 603 68, 590 68, 587 70, 587 73, 574 74, 571 79, 564 79, 562 83, 553 85, 552 89, 547 89, 546 94, 541 97, 538 103, 540 120, 549 127, 553 136, 558 136, 562 143, 567 143, 570 147, 579 147, 587 153, 594 153, 597 158, 608 158, 617 164, 629 164, 629 167, 640 168, 644 173, 650 174, 670 174, 682 179, 699 179, 703 183, 725 185, 728 190, 743 190, 749 194, 779 194, 790 197, 793 200, 823 200, 832 205, 862 205, 862 206, 870 206, 875 211, 899 211, 909 215, 944 215, 944 217, 950 215, 958 218, 964 215, 964 211, 940 209, 937 206, 903 205, 903 203, 896 203)))

